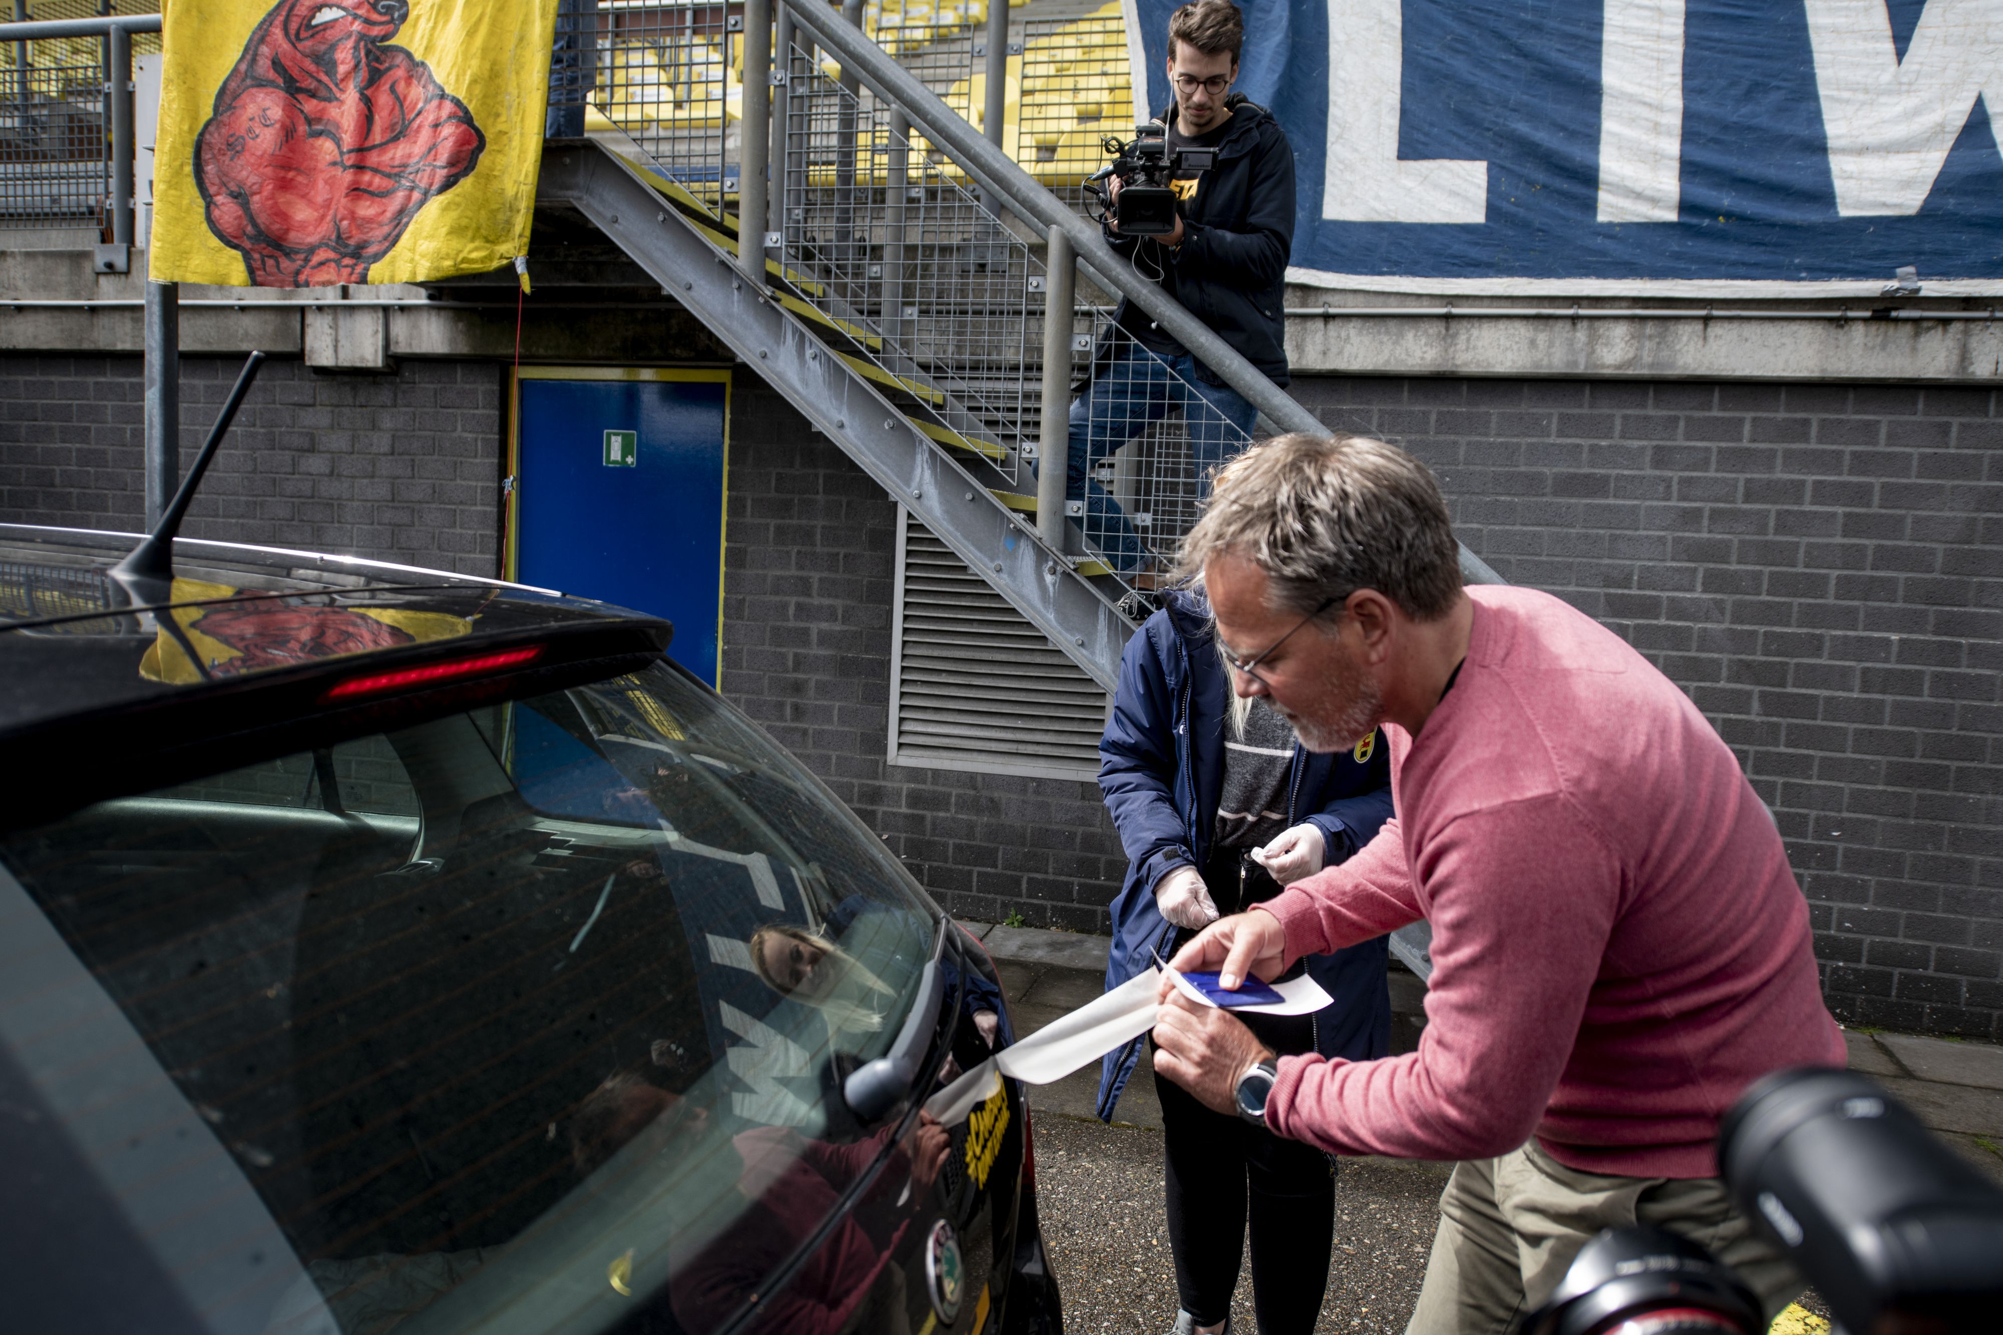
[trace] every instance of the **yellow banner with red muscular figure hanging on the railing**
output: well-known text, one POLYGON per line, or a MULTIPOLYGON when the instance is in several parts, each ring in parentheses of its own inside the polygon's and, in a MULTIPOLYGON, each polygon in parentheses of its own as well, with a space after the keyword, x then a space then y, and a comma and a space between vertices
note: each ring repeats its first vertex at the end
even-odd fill
POLYGON ((529 250, 557 0, 166 6, 150 276, 308 288, 529 250))

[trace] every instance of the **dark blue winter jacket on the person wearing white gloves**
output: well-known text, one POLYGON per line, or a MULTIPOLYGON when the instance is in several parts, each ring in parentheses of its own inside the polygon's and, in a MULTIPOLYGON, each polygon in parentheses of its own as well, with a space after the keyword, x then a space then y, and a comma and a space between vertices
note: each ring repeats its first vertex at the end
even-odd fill
MULTIPOLYGON (((1172 592, 1128 640, 1114 713, 1100 741, 1100 789, 1130 859, 1114 901, 1108 991, 1144 973, 1154 951, 1168 953, 1176 929, 1154 903, 1156 883, 1184 863, 1202 869, 1210 859, 1228 721, 1230 681, 1212 638, 1210 606, 1196 594, 1172 592)), ((1356 753, 1294 747, 1286 819, 1290 827, 1306 821, 1322 831, 1326 865, 1370 843, 1390 815, 1390 749, 1380 735, 1356 753)), ((1308 959, 1308 973, 1332 999, 1314 1025, 1314 1047, 1324 1057, 1370 1061, 1390 1051, 1386 957, 1388 943, 1378 937, 1308 959)), ((1114 1119, 1142 1043, 1136 1039, 1104 1059, 1098 1107, 1104 1121, 1114 1119)))

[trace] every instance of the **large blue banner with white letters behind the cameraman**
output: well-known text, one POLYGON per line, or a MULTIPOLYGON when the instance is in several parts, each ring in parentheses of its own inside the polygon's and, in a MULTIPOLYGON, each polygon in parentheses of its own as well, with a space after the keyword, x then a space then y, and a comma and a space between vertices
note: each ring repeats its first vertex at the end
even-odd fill
MULTIPOLYGON (((1132 2, 1160 112, 1178 0, 1132 2)), ((2003 0, 1238 2, 1300 270, 2003 290, 2003 0)))

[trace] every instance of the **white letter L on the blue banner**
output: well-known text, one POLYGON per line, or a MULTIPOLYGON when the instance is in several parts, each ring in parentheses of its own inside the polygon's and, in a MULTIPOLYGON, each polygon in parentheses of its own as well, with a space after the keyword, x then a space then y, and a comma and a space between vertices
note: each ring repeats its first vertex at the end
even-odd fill
POLYGON ((1402 0, 1328 0, 1322 216, 1332 222, 1484 222, 1486 162, 1398 160, 1402 80, 1402 0))

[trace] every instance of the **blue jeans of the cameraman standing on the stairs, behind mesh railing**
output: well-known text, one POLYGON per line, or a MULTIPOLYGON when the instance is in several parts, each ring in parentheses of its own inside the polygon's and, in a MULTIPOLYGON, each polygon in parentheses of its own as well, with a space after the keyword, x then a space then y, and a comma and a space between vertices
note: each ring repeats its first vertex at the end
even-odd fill
POLYGON ((1228 384, 1200 380, 1194 356, 1162 356, 1122 340, 1092 386, 1072 404, 1064 494, 1086 502, 1086 536, 1122 574, 1142 568, 1148 544, 1112 492, 1094 480, 1092 466, 1176 408, 1182 408, 1190 436, 1196 496, 1206 500, 1212 468, 1252 436, 1258 408, 1228 384))

